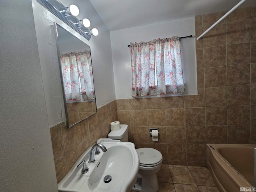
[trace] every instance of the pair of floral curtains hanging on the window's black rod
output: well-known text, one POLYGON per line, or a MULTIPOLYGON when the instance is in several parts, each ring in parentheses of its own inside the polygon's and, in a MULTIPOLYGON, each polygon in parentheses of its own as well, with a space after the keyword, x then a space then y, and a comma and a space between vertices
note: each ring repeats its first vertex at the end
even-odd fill
POLYGON ((132 96, 155 95, 155 79, 157 94, 185 92, 178 37, 130 43, 130 46, 132 96))

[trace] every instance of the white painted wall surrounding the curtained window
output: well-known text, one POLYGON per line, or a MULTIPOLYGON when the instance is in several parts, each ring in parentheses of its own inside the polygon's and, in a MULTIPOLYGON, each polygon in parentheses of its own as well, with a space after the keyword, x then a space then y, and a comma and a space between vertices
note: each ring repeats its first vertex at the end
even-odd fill
MULTIPOLYGON (((189 35, 195 35, 194 17, 111 31, 116 99, 132 98, 130 42, 189 35)), ((186 94, 197 94, 195 38, 182 39, 181 45, 186 94)))

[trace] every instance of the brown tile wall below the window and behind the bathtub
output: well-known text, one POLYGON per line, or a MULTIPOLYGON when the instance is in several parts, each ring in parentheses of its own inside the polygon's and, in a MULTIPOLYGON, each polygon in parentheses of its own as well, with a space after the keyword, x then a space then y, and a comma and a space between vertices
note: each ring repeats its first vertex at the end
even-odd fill
MULTIPOLYGON (((196 16, 196 36, 225 13, 196 16)), ((256 144, 256 7, 196 40, 196 54, 198 95, 116 100, 129 140, 160 150, 165 164, 205 166, 206 143, 256 144)))

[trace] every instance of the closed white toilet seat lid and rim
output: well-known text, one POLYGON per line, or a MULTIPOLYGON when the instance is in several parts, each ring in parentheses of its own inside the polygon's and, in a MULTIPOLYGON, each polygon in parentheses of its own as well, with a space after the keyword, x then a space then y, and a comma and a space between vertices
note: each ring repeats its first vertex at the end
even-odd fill
POLYGON ((136 149, 140 166, 142 167, 155 167, 162 164, 162 154, 153 148, 138 148, 136 149))

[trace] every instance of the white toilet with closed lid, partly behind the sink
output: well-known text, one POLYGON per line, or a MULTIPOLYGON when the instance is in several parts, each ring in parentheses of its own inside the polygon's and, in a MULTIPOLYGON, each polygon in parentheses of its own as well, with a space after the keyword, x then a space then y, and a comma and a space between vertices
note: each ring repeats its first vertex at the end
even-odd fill
MULTIPOLYGON (((120 127, 121 129, 118 131, 111 131, 108 134, 108 138, 128 142, 128 125, 120 125, 120 127)), ((162 154, 153 148, 139 148, 136 149, 136 151, 140 159, 140 167, 137 181, 132 190, 157 192, 159 185, 156 173, 160 170, 162 165, 162 154)))

